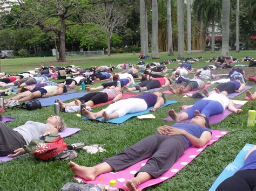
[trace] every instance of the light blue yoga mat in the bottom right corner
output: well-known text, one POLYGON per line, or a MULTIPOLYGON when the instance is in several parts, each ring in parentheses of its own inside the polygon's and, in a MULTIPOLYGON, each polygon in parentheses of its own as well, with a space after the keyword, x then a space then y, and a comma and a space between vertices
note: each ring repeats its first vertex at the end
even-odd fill
POLYGON ((234 161, 228 164, 227 167, 224 168, 223 172, 221 172, 221 174, 215 180, 212 187, 209 189, 210 191, 214 191, 221 182, 232 176, 235 172, 238 171, 238 169, 240 169, 244 165, 245 155, 253 146, 254 145, 247 143, 242 148, 242 150, 238 153, 237 157, 235 157, 234 161))

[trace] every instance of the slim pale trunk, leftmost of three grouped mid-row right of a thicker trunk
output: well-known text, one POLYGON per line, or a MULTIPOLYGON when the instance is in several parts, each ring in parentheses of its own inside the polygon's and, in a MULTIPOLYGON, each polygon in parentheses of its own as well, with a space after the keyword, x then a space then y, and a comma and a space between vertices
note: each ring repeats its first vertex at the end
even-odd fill
POLYGON ((168 55, 173 55, 171 0, 167 0, 168 55))

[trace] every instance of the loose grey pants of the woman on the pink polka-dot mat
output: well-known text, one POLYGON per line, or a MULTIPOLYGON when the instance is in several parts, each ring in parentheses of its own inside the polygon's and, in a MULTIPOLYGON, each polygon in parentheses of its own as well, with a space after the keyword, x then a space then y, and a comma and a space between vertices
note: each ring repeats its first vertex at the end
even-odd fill
POLYGON ((137 162, 149 158, 139 172, 147 172, 157 178, 166 172, 185 151, 185 140, 182 136, 165 136, 155 134, 140 140, 117 155, 105 160, 114 171, 120 171, 137 162))

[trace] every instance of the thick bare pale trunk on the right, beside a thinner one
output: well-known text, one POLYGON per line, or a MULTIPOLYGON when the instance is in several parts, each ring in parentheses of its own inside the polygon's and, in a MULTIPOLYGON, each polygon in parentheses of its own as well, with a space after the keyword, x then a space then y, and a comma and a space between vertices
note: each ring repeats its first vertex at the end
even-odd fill
POLYGON ((222 49, 221 55, 230 56, 229 40, 230 40, 230 0, 222 1, 222 49))

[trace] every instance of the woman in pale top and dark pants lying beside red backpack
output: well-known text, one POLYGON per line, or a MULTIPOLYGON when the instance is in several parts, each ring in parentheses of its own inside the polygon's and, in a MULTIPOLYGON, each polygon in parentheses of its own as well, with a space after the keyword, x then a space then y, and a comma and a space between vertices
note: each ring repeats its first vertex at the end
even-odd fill
POLYGON ((45 124, 28 121, 14 129, 0 122, 0 156, 17 157, 25 152, 22 146, 29 144, 32 139, 47 133, 58 133, 65 128, 66 125, 59 116, 50 116, 45 124))

